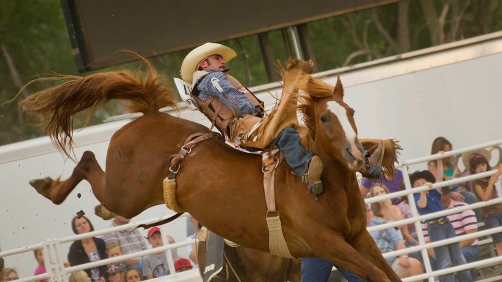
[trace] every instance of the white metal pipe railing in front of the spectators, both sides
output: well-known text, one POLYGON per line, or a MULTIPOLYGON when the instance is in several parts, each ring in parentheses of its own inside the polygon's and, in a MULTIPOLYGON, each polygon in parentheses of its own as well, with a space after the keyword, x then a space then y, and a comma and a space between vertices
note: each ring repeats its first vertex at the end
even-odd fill
MULTIPOLYGON (((446 215, 462 212, 462 211, 469 210, 469 209, 476 209, 476 208, 481 208, 481 207, 485 207, 485 206, 489 206, 489 205, 499 204, 499 203, 502 203, 502 198, 493 199, 493 200, 484 201, 484 202, 478 202, 478 203, 470 204, 467 206, 456 207, 453 209, 448 209, 448 210, 444 210, 441 212, 435 212, 435 213, 431 213, 431 214, 427 214, 427 215, 419 215, 417 212, 417 207, 416 207, 413 195, 416 193, 420 193, 422 191, 429 190, 429 188, 427 186, 422 186, 422 187, 417 187, 417 188, 412 189, 411 183, 410 183, 410 178, 409 178, 409 172, 408 172, 408 168, 411 165, 416 165, 416 164, 429 162, 429 161, 435 161, 435 160, 439 160, 439 159, 443 159, 443 158, 447 158, 447 157, 453 157, 458 154, 471 152, 471 151, 475 151, 475 150, 483 149, 483 148, 488 148, 488 147, 492 147, 492 146, 499 146, 499 145, 502 145, 502 140, 496 140, 496 141, 489 142, 489 143, 484 143, 484 144, 471 146, 471 147, 467 147, 467 148, 463 148, 463 149, 459 149, 459 150, 455 150, 455 151, 446 152, 444 154, 436 154, 436 155, 432 155, 432 156, 428 156, 428 157, 424 157, 424 158, 413 159, 410 161, 402 162, 397 167, 399 167, 403 171, 403 179, 404 179, 404 184, 405 184, 406 189, 403 191, 398 191, 398 192, 387 194, 387 195, 382 195, 382 196, 378 196, 378 197, 372 197, 372 198, 365 199, 366 204, 370 204, 370 203, 379 202, 379 201, 385 200, 385 199, 392 199, 392 198, 402 197, 402 196, 408 197, 408 200, 409 200, 409 203, 411 206, 411 210, 412 210, 412 214, 413 214, 412 218, 394 221, 394 222, 390 222, 390 223, 385 223, 385 224, 381 224, 381 225, 377 225, 377 226, 371 226, 371 227, 367 228, 368 231, 377 231, 377 230, 383 230, 383 229, 397 227, 397 226, 401 226, 401 225, 405 225, 405 224, 412 224, 412 223, 415 224, 420 245, 408 247, 403 250, 396 250, 396 251, 384 253, 384 257, 386 257, 386 258, 405 254, 405 253, 416 252, 416 251, 420 251, 422 253, 424 263, 425 263, 424 266, 426 268, 426 272, 423 274, 417 275, 417 276, 404 278, 403 281, 410 282, 410 281, 429 279, 429 281, 432 282, 432 281, 434 281, 434 278, 433 278, 434 276, 457 272, 460 270, 470 269, 473 267, 480 267, 480 266, 484 266, 484 265, 492 265, 492 264, 502 263, 502 256, 500 256, 500 257, 487 258, 487 259, 471 262, 471 263, 464 264, 464 265, 458 265, 458 266, 454 266, 454 267, 450 267, 450 268, 446 268, 446 269, 432 271, 429 257, 427 255, 427 251, 426 251, 428 248, 446 245, 446 244, 450 244, 453 242, 459 242, 459 241, 463 241, 466 239, 487 236, 487 235, 494 234, 494 233, 500 233, 500 232, 502 232, 502 227, 477 231, 474 233, 469 233, 469 234, 465 234, 465 235, 461 235, 461 236, 456 236, 454 238, 449 238, 449 239, 436 241, 436 242, 430 242, 430 243, 426 244, 425 239, 424 239, 424 234, 422 232, 421 221, 428 220, 431 218, 446 216, 446 215)), ((495 173, 495 170, 492 170, 489 172, 484 172, 484 173, 480 173, 480 174, 476 174, 476 175, 470 175, 470 176, 466 176, 466 177, 461 177, 461 178, 457 178, 457 179, 434 183, 433 189, 444 187, 444 186, 449 186, 449 185, 453 185, 453 184, 458 184, 458 183, 465 183, 467 181, 471 181, 471 180, 479 179, 479 178, 483 178, 483 177, 488 177, 488 176, 493 175, 494 173, 495 173)), ((172 249, 177 249, 177 248, 180 248, 183 246, 191 245, 194 243, 194 241, 192 241, 192 240, 187 240, 184 242, 179 242, 179 243, 174 243, 174 244, 166 244, 161 247, 152 248, 152 249, 148 249, 148 250, 144 250, 144 251, 139 251, 136 253, 130 253, 130 254, 121 255, 121 256, 117 256, 117 257, 113 257, 113 258, 102 259, 102 260, 99 260, 96 262, 90 262, 90 263, 86 263, 86 264, 81 264, 81 265, 77 265, 77 266, 71 266, 71 267, 64 268, 63 259, 61 258, 61 252, 59 251, 60 244, 68 243, 68 242, 72 242, 72 241, 76 241, 76 240, 81 240, 84 238, 96 237, 96 236, 100 236, 100 235, 104 235, 104 234, 108 234, 108 233, 112 233, 112 232, 134 229, 134 228, 137 228, 141 224, 151 224, 154 222, 158 222, 158 221, 167 219, 170 216, 171 215, 158 217, 158 218, 149 219, 149 220, 145 220, 145 221, 141 221, 141 222, 120 225, 120 226, 116 226, 116 227, 112 227, 112 228, 92 231, 92 232, 88 232, 88 233, 84 233, 84 234, 78 234, 78 235, 73 235, 73 236, 68 236, 68 237, 63 237, 63 238, 58 238, 58 239, 49 239, 44 242, 40 242, 38 244, 30 245, 27 247, 21 247, 21 248, 16 248, 16 249, 0 252, 0 257, 30 252, 30 251, 37 250, 37 249, 42 249, 47 273, 39 274, 36 276, 24 277, 24 278, 19 279, 18 281, 19 282, 28 282, 28 281, 47 278, 47 279, 49 279, 50 282, 56 282, 56 281, 67 282, 67 276, 68 276, 67 274, 71 273, 73 271, 88 269, 88 268, 92 268, 92 267, 96 267, 96 266, 100 266, 100 265, 104 265, 104 264, 108 264, 108 263, 123 261, 126 259, 132 259, 132 258, 136 258, 136 257, 148 255, 148 254, 153 254, 153 253, 165 251, 165 252, 167 252, 166 256, 168 259, 169 271, 171 274, 169 274, 168 276, 155 278, 155 279, 153 279, 153 281, 155 281, 155 280, 200 281, 200 276, 199 276, 199 272, 197 269, 192 269, 190 271, 176 273, 176 271, 174 269, 174 262, 173 262, 172 256, 171 256, 172 249)), ((186 217, 186 216, 187 216, 187 214, 184 214, 181 217, 186 217)), ((161 233, 163 233, 162 228, 161 228, 161 233)), ((162 234, 162 238, 166 238, 165 234, 162 234)), ((497 276, 497 277, 493 277, 493 278, 484 279, 482 281, 489 282, 489 281, 500 280, 500 278, 501 278, 500 276, 497 276)))

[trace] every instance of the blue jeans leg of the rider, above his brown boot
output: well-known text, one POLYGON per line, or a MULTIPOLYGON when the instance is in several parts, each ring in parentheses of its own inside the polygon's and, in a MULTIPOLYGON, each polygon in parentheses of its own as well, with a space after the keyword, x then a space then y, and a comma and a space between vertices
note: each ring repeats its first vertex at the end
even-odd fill
POLYGON ((312 152, 303 148, 300 133, 296 132, 293 127, 288 126, 279 133, 277 138, 272 140, 272 145, 284 154, 284 159, 290 168, 297 175, 304 176, 309 168, 309 162, 314 155, 312 152))

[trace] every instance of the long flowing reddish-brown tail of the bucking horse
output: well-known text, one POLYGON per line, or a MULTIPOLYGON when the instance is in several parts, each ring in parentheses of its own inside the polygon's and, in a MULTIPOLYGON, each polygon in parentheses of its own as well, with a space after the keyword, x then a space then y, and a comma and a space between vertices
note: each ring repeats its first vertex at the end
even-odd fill
MULTIPOLYGON (((67 155, 71 152, 73 116, 88 110, 85 125, 94 110, 112 100, 128 100, 124 103, 128 112, 152 114, 163 107, 177 109, 172 90, 161 81, 156 69, 139 54, 122 51, 138 57, 146 65, 148 73, 141 70, 135 76, 128 70, 91 74, 85 77, 62 75, 30 81, 57 81, 58 85, 34 93, 20 102, 23 110, 40 118, 40 125, 53 142, 67 155)), ((24 89, 24 87, 23 87, 24 89)), ((23 90, 22 89, 22 90, 23 90)), ((84 126, 85 126, 84 125, 84 126)))

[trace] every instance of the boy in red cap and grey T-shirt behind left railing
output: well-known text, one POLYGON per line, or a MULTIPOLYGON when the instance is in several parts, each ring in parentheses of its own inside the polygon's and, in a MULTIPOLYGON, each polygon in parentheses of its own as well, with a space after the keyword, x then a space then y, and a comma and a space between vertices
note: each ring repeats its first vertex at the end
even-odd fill
MULTIPOLYGON (((152 227, 148 230, 148 243, 152 245, 152 248, 164 245, 159 227, 152 227)), ((143 275, 147 279, 166 276, 167 274, 169 274, 169 266, 167 265, 165 252, 153 253, 143 257, 143 275)))

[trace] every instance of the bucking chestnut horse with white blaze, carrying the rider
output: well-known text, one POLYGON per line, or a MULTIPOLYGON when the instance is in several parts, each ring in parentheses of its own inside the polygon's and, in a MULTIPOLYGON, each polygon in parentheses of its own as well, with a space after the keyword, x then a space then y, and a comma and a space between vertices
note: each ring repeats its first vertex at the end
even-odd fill
MULTIPOLYGON (((61 84, 21 102, 25 111, 41 117, 46 132, 64 152, 71 150, 72 118, 81 110, 90 115, 96 106, 120 99, 130 102, 130 111, 144 114, 113 134, 106 173, 86 151, 69 179, 31 181, 53 203, 63 202, 77 183, 87 180, 99 202, 128 218, 164 204, 162 183, 169 175, 169 157, 191 134, 208 132, 199 123, 159 111, 176 107, 176 101, 156 70, 140 59, 147 66, 146 77, 140 73, 136 78, 128 71, 64 76, 61 84)), ((294 257, 327 259, 367 281, 401 281, 366 230, 366 209, 355 175, 363 165, 363 147, 354 110, 343 102, 342 84, 338 78, 333 88, 299 72, 299 64, 289 63, 283 70, 283 89, 295 83, 295 91, 305 93, 302 109, 309 131, 304 145, 323 162, 324 192, 316 201, 285 162, 276 169, 276 206, 289 251, 294 257)), ((394 161, 395 152, 391 153, 394 161)), ((268 252, 261 167, 260 156, 234 150, 220 136, 204 140, 186 155, 177 174, 177 201, 212 232, 268 252)))

